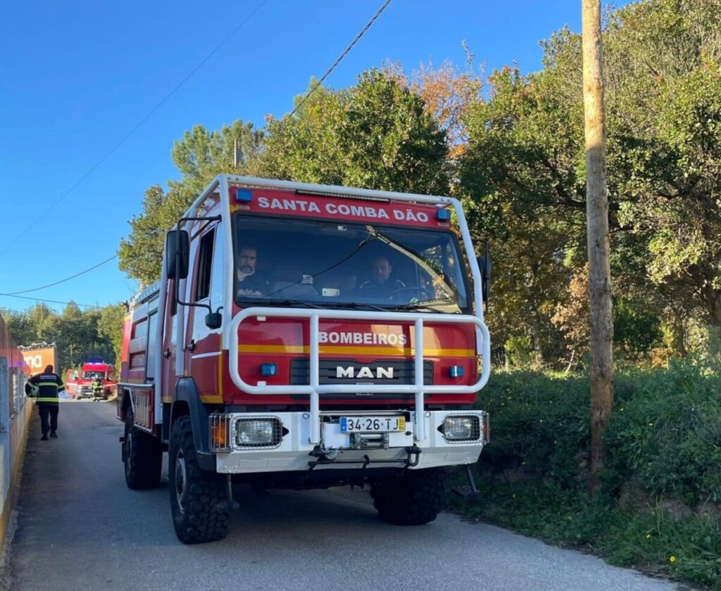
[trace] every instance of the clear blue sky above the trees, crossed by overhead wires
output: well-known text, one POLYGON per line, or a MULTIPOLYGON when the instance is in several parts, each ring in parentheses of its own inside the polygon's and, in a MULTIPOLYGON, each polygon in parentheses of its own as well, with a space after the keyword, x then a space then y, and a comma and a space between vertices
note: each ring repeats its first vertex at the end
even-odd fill
MULTIPOLYGON (((624 2, 619 4, 625 4, 624 2)), ((0 293, 52 283, 111 257, 143 191, 179 177, 175 139, 236 119, 283 115, 381 0, 6 2, 0 19, 0 293), (261 6, 262 4, 262 6, 261 6), (22 239, 8 245, 149 114, 224 37, 260 9, 22 239)), ((580 30, 580 0, 392 0, 327 79, 353 84, 387 60, 541 67, 539 40, 580 30)), ((35 298, 105 306, 128 299, 117 261, 35 298)), ((32 301, 0 296, 0 306, 32 301)), ((60 304, 50 304, 63 308, 60 304)))

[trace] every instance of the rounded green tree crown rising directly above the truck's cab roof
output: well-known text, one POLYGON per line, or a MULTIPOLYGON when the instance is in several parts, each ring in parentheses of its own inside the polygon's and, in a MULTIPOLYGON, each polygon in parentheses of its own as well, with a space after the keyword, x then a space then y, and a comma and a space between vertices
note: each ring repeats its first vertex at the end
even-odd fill
POLYGON ((366 71, 348 89, 317 89, 297 116, 270 120, 249 169, 263 177, 445 195, 446 134, 425 106, 396 76, 366 71))

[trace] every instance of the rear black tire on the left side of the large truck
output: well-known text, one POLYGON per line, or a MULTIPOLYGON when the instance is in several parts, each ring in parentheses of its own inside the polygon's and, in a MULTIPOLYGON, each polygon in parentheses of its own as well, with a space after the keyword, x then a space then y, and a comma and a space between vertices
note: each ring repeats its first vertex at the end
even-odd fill
POLYGON ((156 437, 133 425, 133 412, 130 409, 125 414, 122 459, 125 484, 129 489, 152 489, 160 484, 163 448, 156 437))

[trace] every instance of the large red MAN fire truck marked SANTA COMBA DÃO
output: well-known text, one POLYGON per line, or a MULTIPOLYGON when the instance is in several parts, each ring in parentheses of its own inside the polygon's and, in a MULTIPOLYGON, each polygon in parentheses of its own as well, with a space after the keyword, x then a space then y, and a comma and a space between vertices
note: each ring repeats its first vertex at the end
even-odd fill
POLYGON ((183 543, 226 536, 239 484, 367 485, 390 523, 435 519, 488 440, 484 251, 451 197, 217 177, 125 319, 128 486, 168 452, 183 543))

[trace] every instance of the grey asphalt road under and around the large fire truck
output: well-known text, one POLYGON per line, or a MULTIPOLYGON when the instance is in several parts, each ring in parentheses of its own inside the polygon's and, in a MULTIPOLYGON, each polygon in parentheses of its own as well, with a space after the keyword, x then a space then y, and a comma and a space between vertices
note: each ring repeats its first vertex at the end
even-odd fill
POLYGON ((61 404, 57 440, 40 441, 34 427, 10 548, 13 591, 679 588, 456 515, 386 525, 366 492, 341 489, 244 490, 226 540, 183 546, 167 481, 145 492, 125 486, 112 403, 61 404))

